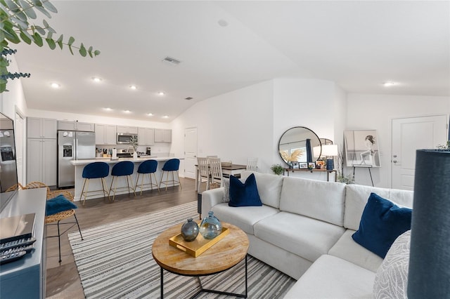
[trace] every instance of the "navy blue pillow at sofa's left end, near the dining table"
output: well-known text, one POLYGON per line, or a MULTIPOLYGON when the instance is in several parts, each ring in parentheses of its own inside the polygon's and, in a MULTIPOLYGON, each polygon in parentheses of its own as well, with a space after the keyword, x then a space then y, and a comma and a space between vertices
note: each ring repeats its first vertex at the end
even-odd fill
POLYGON ((230 175, 230 201, 229 206, 262 206, 256 186, 256 178, 252 173, 245 183, 230 175))

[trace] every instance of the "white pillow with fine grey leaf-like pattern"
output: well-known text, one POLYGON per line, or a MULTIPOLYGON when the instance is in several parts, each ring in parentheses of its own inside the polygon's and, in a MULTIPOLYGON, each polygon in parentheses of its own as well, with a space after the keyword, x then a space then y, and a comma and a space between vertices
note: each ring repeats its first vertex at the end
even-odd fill
POLYGON ((409 248, 411 230, 401 234, 392 244, 378 268, 373 284, 373 298, 408 298, 409 248))

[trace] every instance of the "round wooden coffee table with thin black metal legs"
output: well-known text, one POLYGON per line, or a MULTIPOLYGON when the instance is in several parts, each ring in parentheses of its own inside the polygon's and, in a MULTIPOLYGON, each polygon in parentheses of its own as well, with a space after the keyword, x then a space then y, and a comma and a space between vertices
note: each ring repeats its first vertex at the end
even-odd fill
POLYGON ((202 287, 200 278, 200 291, 195 293, 192 298, 202 292, 219 293, 224 295, 233 295, 236 297, 247 298, 247 251, 248 237, 239 227, 222 222, 222 226, 229 228, 228 235, 221 239, 204 253, 194 258, 188 253, 169 245, 169 239, 179 234, 181 225, 174 225, 160 234, 152 246, 153 259, 160 265, 160 281, 161 281, 161 298, 164 295, 163 270, 167 270, 174 274, 201 277, 229 270, 237 265, 241 260, 245 259, 245 294, 227 293, 223 291, 215 291, 202 287))

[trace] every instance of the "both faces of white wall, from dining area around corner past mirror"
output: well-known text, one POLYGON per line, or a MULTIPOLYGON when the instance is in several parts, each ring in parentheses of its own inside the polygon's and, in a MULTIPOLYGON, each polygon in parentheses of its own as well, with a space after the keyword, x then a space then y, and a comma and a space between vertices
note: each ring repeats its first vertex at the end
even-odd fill
POLYGON ((345 123, 345 108, 335 107, 336 100, 345 105, 342 95, 334 82, 318 79, 274 79, 225 93, 198 102, 172 122, 172 150, 182 156, 184 129, 197 127, 199 157, 217 154, 236 164, 258 157, 259 171, 271 173, 272 164, 283 162, 278 140, 288 128, 305 126, 334 139, 335 123, 345 123))

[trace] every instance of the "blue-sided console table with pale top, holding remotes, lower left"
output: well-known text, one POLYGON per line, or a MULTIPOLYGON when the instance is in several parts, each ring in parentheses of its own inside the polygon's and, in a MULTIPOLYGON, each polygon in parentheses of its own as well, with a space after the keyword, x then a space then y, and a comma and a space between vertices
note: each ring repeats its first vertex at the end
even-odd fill
POLYGON ((46 188, 19 190, 0 213, 6 218, 34 213, 34 249, 0 268, 0 298, 45 298, 46 188))

